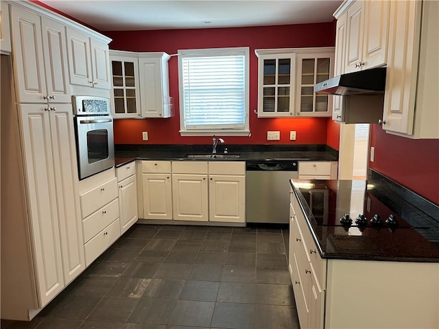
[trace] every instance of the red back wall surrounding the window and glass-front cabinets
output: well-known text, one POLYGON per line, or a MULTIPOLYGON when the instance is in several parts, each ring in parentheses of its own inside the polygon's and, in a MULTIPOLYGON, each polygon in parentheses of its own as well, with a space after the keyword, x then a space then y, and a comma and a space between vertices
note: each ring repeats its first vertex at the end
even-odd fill
MULTIPOLYGON (((160 31, 104 32, 113 39, 110 49, 127 51, 165 51, 178 49, 250 47, 250 137, 226 137, 230 144, 327 144, 338 149, 339 128, 329 118, 258 119, 257 57, 254 49, 331 47, 335 43, 335 23, 237 27, 224 29, 181 29, 160 31), (280 141, 267 141, 268 130, 279 130, 280 141), (289 131, 296 130, 296 141, 289 131)), ((178 102, 178 60, 169 60, 169 93, 174 97, 175 115, 169 119, 115 120, 116 144, 208 144, 211 137, 182 137, 178 102), (149 141, 143 142, 142 131, 149 141)))

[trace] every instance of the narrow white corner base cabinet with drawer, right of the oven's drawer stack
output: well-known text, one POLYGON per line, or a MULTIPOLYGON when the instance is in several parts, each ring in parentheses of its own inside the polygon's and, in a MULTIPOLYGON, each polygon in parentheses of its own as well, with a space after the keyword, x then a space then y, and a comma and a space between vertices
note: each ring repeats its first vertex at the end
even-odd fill
POLYGON ((134 223, 137 215, 137 180, 135 162, 130 162, 116 169, 117 186, 119 187, 119 212, 121 234, 134 223))

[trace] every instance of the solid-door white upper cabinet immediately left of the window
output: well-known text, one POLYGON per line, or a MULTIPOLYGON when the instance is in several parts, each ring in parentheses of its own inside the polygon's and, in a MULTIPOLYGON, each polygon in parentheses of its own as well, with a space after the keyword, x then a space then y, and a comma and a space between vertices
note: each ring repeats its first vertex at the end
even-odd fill
POLYGON ((171 116, 167 67, 169 58, 163 56, 139 58, 141 114, 145 118, 171 116))

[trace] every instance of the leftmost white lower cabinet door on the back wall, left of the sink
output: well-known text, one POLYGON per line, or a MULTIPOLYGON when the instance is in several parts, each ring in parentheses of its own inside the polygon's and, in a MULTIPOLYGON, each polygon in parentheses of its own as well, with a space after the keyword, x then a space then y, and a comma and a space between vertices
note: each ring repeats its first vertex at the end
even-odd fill
POLYGON ((143 219, 172 219, 171 173, 143 173, 143 219))

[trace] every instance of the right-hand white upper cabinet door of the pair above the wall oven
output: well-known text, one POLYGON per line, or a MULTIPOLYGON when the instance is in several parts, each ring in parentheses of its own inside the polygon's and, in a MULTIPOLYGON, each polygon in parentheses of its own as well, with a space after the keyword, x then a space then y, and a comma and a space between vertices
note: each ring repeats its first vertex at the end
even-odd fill
POLYGON ((93 87, 111 89, 110 56, 105 42, 90 38, 93 87))

